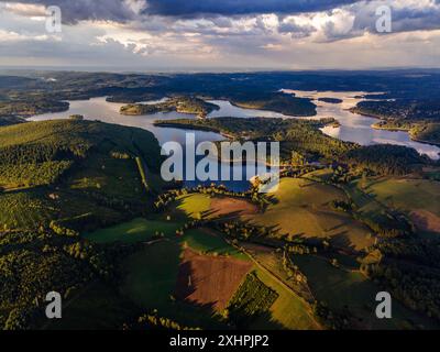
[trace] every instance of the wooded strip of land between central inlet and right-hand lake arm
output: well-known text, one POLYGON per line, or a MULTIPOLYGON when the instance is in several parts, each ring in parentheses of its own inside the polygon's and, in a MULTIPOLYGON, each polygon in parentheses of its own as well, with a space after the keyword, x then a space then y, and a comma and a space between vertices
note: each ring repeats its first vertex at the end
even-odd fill
POLYGON ((292 162, 293 153, 299 152, 311 158, 323 157, 328 162, 367 169, 377 175, 406 175, 431 163, 429 158, 420 156, 409 147, 388 144, 360 146, 328 136, 319 130, 333 121, 218 118, 156 121, 155 125, 182 129, 190 127, 220 132, 237 140, 278 141, 284 162, 292 162))

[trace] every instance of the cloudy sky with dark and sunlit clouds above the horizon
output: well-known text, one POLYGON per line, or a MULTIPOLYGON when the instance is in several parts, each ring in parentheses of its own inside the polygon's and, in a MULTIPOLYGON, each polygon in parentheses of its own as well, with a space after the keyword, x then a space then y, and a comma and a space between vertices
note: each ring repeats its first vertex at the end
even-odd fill
POLYGON ((440 67, 440 0, 0 0, 0 66, 440 67))

